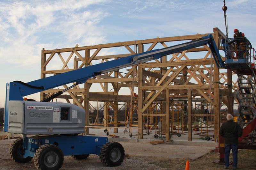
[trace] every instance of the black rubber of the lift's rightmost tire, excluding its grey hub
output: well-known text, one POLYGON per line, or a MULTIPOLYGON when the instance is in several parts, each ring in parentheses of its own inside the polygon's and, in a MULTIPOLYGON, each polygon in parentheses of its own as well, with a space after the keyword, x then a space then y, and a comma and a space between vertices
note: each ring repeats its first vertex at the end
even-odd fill
POLYGON ((100 161, 106 166, 119 166, 124 161, 124 147, 118 142, 108 142, 104 144, 100 150, 100 161), (112 162, 108 156, 108 153, 113 147, 118 147, 121 152, 121 157, 117 162, 112 162))

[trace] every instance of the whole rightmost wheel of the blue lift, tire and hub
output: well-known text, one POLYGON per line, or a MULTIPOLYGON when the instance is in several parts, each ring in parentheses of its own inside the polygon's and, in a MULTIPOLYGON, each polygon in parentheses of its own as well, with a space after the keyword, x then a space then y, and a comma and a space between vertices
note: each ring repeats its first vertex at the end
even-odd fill
POLYGON ((100 150, 100 161, 107 166, 119 166, 124 161, 124 148, 118 142, 108 142, 100 150))

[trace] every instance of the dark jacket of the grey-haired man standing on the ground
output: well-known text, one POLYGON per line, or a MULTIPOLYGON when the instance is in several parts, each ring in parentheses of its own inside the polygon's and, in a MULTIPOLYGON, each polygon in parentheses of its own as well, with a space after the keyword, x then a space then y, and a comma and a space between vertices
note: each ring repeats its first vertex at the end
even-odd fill
POLYGON ((242 136, 243 129, 238 123, 227 121, 220 127, 220 136, 225 137, 225 144, 237 144, 238 137, 242 136))

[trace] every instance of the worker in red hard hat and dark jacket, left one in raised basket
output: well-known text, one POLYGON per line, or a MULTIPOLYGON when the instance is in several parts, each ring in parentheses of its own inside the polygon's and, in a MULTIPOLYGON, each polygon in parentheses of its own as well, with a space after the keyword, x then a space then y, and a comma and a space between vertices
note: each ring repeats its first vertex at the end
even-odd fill
POLYGON ((234 33, 234 40, 230 41, 229 44, 236 42, 238 58, 243 59, 243 52, 245 50, 244 37, 242 32, 239 32, 238 29, 234 29, 234 33))

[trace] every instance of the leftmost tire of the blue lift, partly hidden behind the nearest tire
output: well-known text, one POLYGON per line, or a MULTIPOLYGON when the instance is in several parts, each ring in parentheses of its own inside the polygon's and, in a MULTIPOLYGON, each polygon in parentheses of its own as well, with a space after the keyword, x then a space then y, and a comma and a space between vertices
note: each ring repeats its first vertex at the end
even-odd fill
POLYGON ((10 147, 9 147, 9 155, 11 156, 11 159, 18 163, 27 163, 29 162, 32 157, 23 158, 22 155, 24 155, 25 151, 22 146, 23 139, 16 139, 12 141, 10 147))

